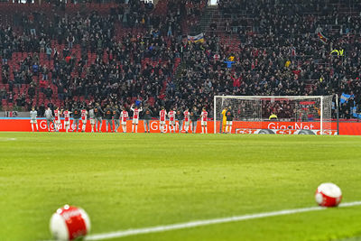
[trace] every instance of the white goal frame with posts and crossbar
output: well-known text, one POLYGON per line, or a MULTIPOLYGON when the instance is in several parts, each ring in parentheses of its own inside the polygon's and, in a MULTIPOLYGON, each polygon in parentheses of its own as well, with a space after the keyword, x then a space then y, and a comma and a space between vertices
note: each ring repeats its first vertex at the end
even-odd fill
MULTIPOLYGON (((292 99, 317 99, 319 98, 319 131, 320 134, 324 134, 324 109, 323 109, 323 105, 324 105, 324 99, 326 97, 331 97, 331 103, 332 103, 332 95, 329 96, 214 96, 214 102, 213 102, 213 123, 214 123, 214 134, 217 134, 217 122, 219 121, 219 119, 217 118, 218 113, 217 113, 217 99, 221 98, 222 99, 222 105, 224 103, 224 100, 227 99, 284 99, 284 98, 288 98, 290 100, 292 99)), ((338 104, 338 95, 336 95, 336 103, 338 104)), ((338 105, 337 105, 338 107, 338 105)), ((331 118, 331 109, 328 110, 329 111, 329 116, 331 118)), ((338 109, 337 109, 337 113, 338 113, 338 109)))

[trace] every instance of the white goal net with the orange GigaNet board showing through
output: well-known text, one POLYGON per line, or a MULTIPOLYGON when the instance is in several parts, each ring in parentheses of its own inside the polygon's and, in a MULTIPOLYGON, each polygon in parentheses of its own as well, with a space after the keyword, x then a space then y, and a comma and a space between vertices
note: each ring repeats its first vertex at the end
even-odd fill
POLYGON ((215 96, 214 132, 226 130, 225 109, 236 134, 337 134, 331 121, 332 96, 215 96))

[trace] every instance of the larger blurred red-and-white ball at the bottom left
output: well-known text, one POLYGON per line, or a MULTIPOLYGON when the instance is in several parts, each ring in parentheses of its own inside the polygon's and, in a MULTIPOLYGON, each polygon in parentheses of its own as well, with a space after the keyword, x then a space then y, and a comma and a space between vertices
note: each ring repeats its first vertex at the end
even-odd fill
POLYGON ((51 234, 56 240, 74 240, 89 230, 90 219, 83 209, 65 205, 51 216, 51 234))

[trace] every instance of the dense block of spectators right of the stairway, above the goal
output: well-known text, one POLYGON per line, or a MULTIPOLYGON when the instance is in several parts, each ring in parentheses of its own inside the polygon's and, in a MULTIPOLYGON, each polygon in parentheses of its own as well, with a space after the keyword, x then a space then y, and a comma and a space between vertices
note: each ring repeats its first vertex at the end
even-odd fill
POLYGON ((342 105, 341 117, 352 116, 350 107, 361 112, 361 5, 350 13, 347 7, 342 12, 338 5, 321 2, 219 1, 218 20, 223 21, 211 23, 205 42, 187 46, 180 96, 211 103, 213 93, 347 93, 355 98, 342 105), (225 32, 226 37, 220 36, 225 32), (222 38, 239 41, 238 51, 222 38), (333 50, 343 54, 331 54, 333 50))

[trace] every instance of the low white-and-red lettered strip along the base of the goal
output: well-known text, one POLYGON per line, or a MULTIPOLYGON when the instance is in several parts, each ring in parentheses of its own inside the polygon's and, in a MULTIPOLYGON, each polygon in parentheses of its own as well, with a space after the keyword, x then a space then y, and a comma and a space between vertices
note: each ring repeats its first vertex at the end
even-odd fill
POLYGON ((236 128, 236 134, 326 134, 337 135, 337 130, 310 130, 310 129, 245 129, 236 128))

